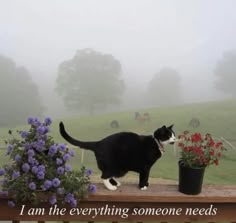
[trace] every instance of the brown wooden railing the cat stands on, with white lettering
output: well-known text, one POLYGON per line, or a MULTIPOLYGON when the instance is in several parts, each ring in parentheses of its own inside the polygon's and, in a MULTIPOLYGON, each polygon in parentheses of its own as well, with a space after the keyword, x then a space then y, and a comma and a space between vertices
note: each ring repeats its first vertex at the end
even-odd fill
POLYGON ((155 184, 140 191, 129 184, 112 192, 98 184, 97 192, 81 200, 77 209, 46 203, 34 209, 29 203, 9 208, 7 201, 7 197, 0 197, 0 220, 14 222, 236 222, 236 186, 206 185, 199 195, 184 195, 177 185, 155 184))

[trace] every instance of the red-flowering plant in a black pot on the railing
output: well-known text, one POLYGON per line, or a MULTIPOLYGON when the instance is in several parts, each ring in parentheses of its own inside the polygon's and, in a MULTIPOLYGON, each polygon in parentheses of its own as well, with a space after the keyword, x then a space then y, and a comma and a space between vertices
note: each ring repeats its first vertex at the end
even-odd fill
POLYGON ((179 135, 179 191, 184 194, 201 193, 205 168, 219 165, 219 159, 226 150, 222 142, 215 142, 210 134, 179 135))

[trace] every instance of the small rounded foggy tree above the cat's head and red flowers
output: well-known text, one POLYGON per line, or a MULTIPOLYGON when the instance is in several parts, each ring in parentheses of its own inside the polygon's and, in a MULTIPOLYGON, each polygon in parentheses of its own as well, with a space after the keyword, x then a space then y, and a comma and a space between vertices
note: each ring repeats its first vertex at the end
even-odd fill
POLYGON ((148 84, 148 98, 155 106, 174 105, 181 100, 181 78, 169 67, 157 72, 148 84))

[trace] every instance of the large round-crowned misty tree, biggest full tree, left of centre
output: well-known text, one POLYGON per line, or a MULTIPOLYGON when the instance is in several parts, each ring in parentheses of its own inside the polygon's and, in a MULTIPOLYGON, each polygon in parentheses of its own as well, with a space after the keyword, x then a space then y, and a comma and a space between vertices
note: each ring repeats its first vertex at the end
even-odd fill
POLYGON ((57 91, 69 108, 93 113, 98 107, 118 104, 123 90, 121 65, 112 55, 78 50, 59 66, 57 91))

